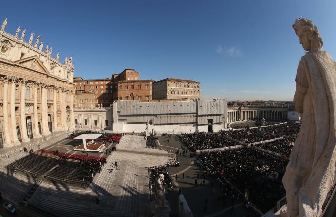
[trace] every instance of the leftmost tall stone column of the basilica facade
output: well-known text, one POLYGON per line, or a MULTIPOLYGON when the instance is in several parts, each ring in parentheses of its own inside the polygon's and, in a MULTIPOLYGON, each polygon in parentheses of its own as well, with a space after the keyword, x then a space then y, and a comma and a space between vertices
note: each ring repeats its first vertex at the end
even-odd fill
POLYGON ((9 129, 9 120, 8 120, 8 83, 10 77, 5 76, 3 78, 3 134, 4 134, 4 147, 11 147, 14 144, 12 143, 9 129))

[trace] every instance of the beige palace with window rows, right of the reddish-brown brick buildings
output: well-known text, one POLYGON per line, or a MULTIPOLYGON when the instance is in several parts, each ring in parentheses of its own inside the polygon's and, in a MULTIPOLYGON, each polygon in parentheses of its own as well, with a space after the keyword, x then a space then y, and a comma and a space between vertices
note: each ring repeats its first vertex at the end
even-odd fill
POLYGON ((201 100, 201 83, 187 79, 166 78, 153 82, 153 100, 187 98, 190 101, 201 100))

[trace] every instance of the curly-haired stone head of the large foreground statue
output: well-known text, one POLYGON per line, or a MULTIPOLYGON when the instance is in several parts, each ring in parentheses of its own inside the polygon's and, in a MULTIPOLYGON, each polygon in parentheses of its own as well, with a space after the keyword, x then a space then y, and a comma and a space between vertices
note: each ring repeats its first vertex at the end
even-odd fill
POLYGON ((322 48, 323 41, 313 21, 308 19, 296 19, 293 28, 304 50, 310 51, 322 48))

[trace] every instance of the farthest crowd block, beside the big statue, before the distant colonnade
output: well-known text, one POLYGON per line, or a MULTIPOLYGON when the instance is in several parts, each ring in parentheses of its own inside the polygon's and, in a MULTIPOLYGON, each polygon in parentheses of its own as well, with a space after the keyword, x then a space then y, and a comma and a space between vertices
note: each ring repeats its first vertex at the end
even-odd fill
POLYGON ((296 135, 299 134, 300 126, 300 124, 290 121, 285 124, 263 127, 261 130, 274 134, 296 137, 296 135))

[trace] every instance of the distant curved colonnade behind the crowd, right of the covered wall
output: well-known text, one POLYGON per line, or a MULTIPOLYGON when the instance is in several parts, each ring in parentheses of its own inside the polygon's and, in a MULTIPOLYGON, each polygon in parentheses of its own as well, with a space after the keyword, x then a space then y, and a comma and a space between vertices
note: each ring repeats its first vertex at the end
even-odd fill
POLYGON ((237 120, 286 120, 288 111, 273 111, 273 110, 250 110, 250 111, 232 111, 228 112, 229 122, 237 120))

